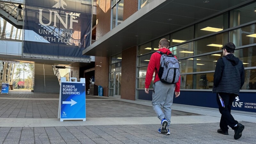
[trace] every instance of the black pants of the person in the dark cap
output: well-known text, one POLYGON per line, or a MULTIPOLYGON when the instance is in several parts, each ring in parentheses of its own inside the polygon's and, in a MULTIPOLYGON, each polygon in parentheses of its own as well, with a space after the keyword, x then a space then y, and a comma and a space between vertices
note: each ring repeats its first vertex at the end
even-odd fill
POLYGON ((234 130, 234 126, 238 124, 238 122, 234 119, 234 117, 231 115, 231 106, 233 101, 236 98, 235 94, 230 93, 219 93, 220 97, 224 101, 225 108, 221 106, 220 99, 217 93, 217 103, 219 105, 219 111, 221 114, 220 118, 220 128, 222 131, 228 132, 228 126, 231 127, 234 130))

